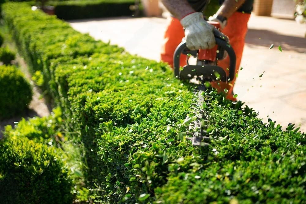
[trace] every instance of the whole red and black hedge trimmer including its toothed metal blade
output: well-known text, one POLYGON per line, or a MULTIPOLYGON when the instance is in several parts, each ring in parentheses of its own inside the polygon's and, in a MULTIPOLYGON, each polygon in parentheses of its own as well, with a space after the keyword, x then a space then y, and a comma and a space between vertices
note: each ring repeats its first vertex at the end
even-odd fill
MULTIPOLYGON (((218 27, 215 22, 209 23, 218 27)), ((207 89, 205 82, 230 82, 235 75, 236 54, 233 48, 228 43, 227 37, 217 28, 214 29, 214 35, 216 46, 210 50, 189 50, 183 40, 174 52, 175 77, 181 80, 190 80, 191 83, 198 85, 195 91, 195 94, 198 95, 198 101, 195 104, 196 120, 189 124, 189 132, 187 133, 192 136, 187 139, 192 141, 193 146, 207 146, 207 142, 210 140, 206 125, 208 113, 204 110, 204 106, 210 104, 211 96, 205 95, 207 89), (224 69, 218 66, 218 60, 224 59, 226 53, 230 58, 229 76, 224 69), (187 55, 187 64, 183 67, 180 67, 181 54, 187 55), (188 58, 191 56, 196 58, 196 65, 189 64, 188 58)))

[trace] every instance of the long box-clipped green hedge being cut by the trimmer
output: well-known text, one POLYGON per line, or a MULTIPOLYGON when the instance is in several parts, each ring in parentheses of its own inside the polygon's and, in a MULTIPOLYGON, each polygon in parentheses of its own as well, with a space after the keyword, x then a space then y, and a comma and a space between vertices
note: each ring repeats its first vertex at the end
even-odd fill
POLYGON ((177 137, 188 128, 193 87, 162 63, 95 41, 67 23, 3 7, 19 49, 84 144, 85 182, 103 203, 279 203, 305 200, 305 134, 263 124, 215 91, 211 146, 177 137), (26 48, 26 49, 24 49, 26 48), (188 118, 187 118, 188 119, 188 118), (188 121, 188 120, 187 120, 188 121))

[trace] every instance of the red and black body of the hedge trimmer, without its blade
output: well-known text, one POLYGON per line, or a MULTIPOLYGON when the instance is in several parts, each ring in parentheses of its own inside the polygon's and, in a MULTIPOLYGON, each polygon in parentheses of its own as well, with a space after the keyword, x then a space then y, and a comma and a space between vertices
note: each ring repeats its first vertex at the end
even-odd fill
POLYGON ((174 52, 174 75, 181 80, 190 80, 198 78, 202 81, 224 81, 230 82, 234 79, 235 67, 236 67, 236 55, 230 46, 226 35, 222 34, 217 28, 220 28, 220 24, 217 22, 208 21, 215 26, 213 30, 216 46, 208 50, 189 50, 186 46, 186 42, 181 42, 174 52), (218 60, 221 60, 227 52, 230 58, 229 75, 222 67, 218 66, 218 60), (188 57, 186 56, 186 65, 180 69, 180 56, 181 54, 190 56, 192 55, 197 59, 196 65, 189 65, 188 57))

